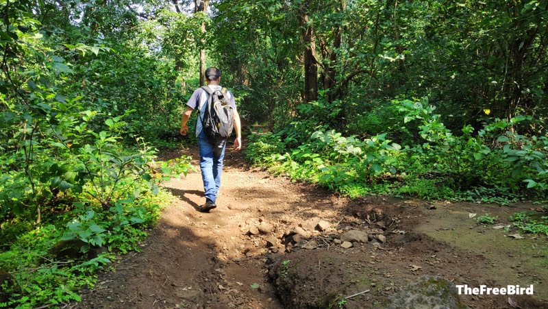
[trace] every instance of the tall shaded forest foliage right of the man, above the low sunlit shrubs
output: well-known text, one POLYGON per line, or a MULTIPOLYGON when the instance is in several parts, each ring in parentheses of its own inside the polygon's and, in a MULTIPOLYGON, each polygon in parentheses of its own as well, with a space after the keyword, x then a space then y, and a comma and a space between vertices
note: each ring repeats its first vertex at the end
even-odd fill
POLYGON ((303 103, 306 42, 304 32, 294 29, 314 32, 319 72, 310 77, 317 77, 319 101, 325 99, 329 114, 315 120, 345 134, 397 132, 384 102, 399 96, 431 98, 453 132, 464 123, 479 128, 516 114, 535 114, 541 122, 547 116, 542 37, 548 18, 542 1, 214 5, 214 53, 231 81, 251 89, 244 106, 253 120, 267 118, 271 127, 286 125, 303 103))

